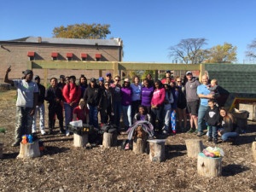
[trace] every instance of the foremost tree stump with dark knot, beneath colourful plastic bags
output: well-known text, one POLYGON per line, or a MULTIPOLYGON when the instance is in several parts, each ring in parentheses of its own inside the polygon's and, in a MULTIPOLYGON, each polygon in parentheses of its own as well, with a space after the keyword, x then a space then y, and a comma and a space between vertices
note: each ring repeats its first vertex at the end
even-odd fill
POLYGON ((206 177, 221 176, 221 172, 222 172, 221 160, 222 160, 222 157, 212 158, 212 157, 207 157, 203 153, 199 153, 197 158, 197 173, 201 176, 206 176, 206 177))

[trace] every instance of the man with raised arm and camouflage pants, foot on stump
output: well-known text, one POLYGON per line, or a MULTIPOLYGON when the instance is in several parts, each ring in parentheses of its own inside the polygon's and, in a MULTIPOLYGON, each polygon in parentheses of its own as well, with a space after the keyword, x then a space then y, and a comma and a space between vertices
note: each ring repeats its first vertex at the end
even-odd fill
POLYGON ((10 67, 7 69, 4 82, 12 84, 17 88, 16 101, 16 125, 15 125, 15 143, 13 147, 19 146, 23 135, 32 133, 32 118, 38 103, 38 85, 32 82, 32 70, 23 72, 24 79, 9 79, 10 67))

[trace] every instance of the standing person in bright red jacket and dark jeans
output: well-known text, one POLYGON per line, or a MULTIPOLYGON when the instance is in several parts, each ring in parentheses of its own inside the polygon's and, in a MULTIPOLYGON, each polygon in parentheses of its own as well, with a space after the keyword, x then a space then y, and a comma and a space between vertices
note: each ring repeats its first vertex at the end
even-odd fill
POLYGON ((62 90, 64 97, 66 136, 69 136, 67 126, 73 119, 73 109, 79 105, 81 97, 81 89, 77 84, 75 84, 76 77, 70 76, 69 78, 69 83, 67 83, 62 90))

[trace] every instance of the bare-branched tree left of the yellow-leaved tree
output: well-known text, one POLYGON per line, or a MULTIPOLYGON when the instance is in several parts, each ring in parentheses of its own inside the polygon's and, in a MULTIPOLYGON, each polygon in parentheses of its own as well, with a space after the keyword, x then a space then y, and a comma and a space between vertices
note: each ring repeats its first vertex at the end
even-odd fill
POLYGON ((182 39, 179 44, 170 47, 169 57, 181 59, 186 64, 197 64, 204 60, 206 50, 201 49, 206 45, 206 38, 187 38, 182 39))

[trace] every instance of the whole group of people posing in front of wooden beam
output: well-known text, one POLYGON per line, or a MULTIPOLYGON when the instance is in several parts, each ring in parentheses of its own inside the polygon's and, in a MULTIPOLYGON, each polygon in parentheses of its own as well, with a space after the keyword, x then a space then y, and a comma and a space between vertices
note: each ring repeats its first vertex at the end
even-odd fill
POLYGON ((23 79, 14 80, 9 79, 10 71, 9 67, 4 80, 17 87, 17 123, 13 146, 20 144, 23 134, 37 131, 38 113, 40 131, 42 135, 46 134, 44 101, 49 103, 49 134, 53 133, 56 118, 59 120, 60 132, 69 136, 67 126, 73 120, 81 119, 84 124, 96 128, 110 123, 120 129, 121 116, 125 130, 137 120, 148 120, 154 125, 156 133, 176 134, 176 122, 180 131, 187 131, 189 113, 189 132, 196 132, 197 136, 201 137, 204 126, 208 125, 209 141, 212 141, 213 137, 216 143, 218 133, 222 134, 223 140, 237 137, 232 133, 235 132, 236 126, 231 114, 224 108, 218 111, 218 82, 212 79, 209 85, 207 75, 202 77, 202 84, 191 72, 187 72, 184 79, 173 79, 171 71, 166 71, 164 79, 155 81, 151 74, 148 74, 142 82, 136 75, 131 79, 132 82, 130 79, 124 79, 123 84, 119 75, 112 77, 111 73, 107 73, 105 78, 98 78, 98 82, 91 78, 89 84, 84 75, 81 75, 78 84, 75 76, 61 75, 59 82, 58 79, 51 78, 49 88, 45 89, 44 85, 40 84, 38 75, 33 79, 31 70, 23 72, 23 79), (213 122, 214 118, 218 120, 213 122), (221 125, 221 122, 223 129, 217 133, 217 126, 221 125))

